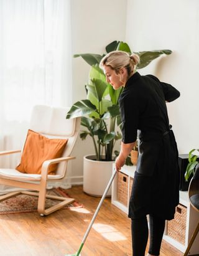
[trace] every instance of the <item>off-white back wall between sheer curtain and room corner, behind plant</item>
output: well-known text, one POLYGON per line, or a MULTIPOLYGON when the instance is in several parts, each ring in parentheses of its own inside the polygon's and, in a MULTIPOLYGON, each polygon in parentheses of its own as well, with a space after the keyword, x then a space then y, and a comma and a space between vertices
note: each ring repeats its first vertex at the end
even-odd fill
MULTIPOLYGON (((126 5, 123 0, 72 0, 72 54, 103 54, 104 47, 126 35, 126 5)), ((85 83, 90 66, 81 59, 73 59, 73 103, 85 99, 85 83)), ((73 154, 72 176, 82 176, 83 156, 94 153, 93 143, 86 138, 78 141, 73 154)), ((82 178, 72 182, 81 182, 82 178)))

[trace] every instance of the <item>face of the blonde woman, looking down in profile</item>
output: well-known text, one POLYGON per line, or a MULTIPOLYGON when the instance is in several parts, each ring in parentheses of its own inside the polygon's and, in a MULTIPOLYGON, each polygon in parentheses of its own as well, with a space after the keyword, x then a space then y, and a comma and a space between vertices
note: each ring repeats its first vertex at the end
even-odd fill
POLYGON ((114 90, 118 90, 121 86, 124 86, 124 83, 121 82, 121 74, 116 73, 115 70, 111 67, 104 65, 103 67, 104 74, 106 75, 106 82, 110 83, 114 90))

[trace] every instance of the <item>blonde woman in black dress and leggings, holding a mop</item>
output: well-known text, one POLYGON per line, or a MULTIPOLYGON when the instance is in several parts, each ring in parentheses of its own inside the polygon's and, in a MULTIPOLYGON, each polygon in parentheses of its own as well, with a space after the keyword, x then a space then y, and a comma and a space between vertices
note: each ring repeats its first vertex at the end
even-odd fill
POLYGON ((174 219, 179 200, 178 151, 165 102, 172 102, 180 92, 153 75, 141 76, 136 72, 138 63, 138 55, 114 51, 103 57, 100 67, 115 90, 124 87, 119 97, 123 140, 116 159, 117 171, 139 138, 139 158, 129 202, 133 255, 145 255, 149 214, 148 255, 157 256, 165 220, 174 219))

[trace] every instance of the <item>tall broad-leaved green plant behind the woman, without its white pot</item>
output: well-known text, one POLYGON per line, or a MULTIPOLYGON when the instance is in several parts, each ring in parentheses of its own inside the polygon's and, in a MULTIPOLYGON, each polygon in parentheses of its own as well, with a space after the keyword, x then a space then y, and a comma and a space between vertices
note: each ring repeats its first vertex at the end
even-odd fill
MULTIPOLYGON (((106 46, 106 53, 113 50, 123 50, 132 53, 129 45, 125 42, 113 41, 106 46)), ((142 69, 150 62, 162 54, 171 54, 171 50, 152 50, 135 52, 140 57, 137 69, 142 69)), ((72 105, 67 113, 67 118, 81 116, 81 125, 86 130, 81 131, 82 140, 90 135, 95 148, 96 160, 113 160, 114 145, 121 139, 121 133, 116 131, 116 127, 121 125, 118 99, 123 88, 114 90, 99 68, 99 62, 105 54, 76 54, 74 57, 82 57, 91 69, 89 80, 85 85, 86 99, 80 100, 72 105)), ((129 158, 130 160, 130 158, 129 158)))

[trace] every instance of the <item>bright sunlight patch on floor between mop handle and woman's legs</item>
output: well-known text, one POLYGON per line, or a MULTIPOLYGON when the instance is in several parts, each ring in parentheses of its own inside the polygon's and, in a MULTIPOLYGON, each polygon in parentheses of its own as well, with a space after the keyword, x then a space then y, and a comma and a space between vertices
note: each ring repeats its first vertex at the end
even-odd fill
POLYGON ((121 232, 116 230, 114 227, 111 227, 111 225, 99 223, 93 224, 93 229, 95 229, 96 232, 100 233, 105 239, 108 239, 109 241, 119 241, 127 239, 123 234, 121 234, 121 232))

